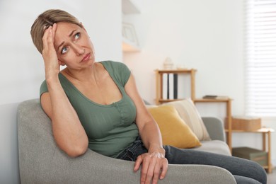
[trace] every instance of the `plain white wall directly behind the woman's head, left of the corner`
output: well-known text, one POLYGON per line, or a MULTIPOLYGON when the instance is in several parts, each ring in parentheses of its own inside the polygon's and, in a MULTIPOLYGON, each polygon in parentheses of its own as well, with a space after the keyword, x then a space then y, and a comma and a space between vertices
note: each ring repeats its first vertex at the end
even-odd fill
POLYGON ((120 0, 1 0, 0 105, 39 97, 44 64, 30 38, 30 26, 49 8, 64 9, 84 23, 96 59, 122 60, 120 0))

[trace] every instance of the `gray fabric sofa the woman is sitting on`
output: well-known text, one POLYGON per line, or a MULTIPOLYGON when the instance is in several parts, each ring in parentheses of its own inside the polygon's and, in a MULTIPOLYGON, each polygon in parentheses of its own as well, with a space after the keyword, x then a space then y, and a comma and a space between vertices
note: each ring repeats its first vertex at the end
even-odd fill
MULTIPOLYGON (((217 140, 203 142, 198 149, 230 154, 224 142, 222 122, 213 117, 204 118, 204 122, 211 138, 217 140)), ((70 158, 55 144, 51 128, 50 119, 40 108, 38 99, 18 105, 21 183, 139 183, 139 171, 133 172, 133 162, 108 158, 90 149, 83 156, 70 158)), ((229 171, 215 166, 169 165, 166 178, 159 183, 236 181, 229 171)))

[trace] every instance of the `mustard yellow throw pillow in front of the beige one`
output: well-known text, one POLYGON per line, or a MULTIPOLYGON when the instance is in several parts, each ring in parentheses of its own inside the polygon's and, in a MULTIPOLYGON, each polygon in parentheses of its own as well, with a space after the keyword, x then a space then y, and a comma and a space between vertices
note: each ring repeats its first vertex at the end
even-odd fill
POLYGON ((178 148, 192 148, 201 146, 195 134, 178 115, 176 108, 171 105, 162 105, 148 108, 161 131, 164 145, 178 148))

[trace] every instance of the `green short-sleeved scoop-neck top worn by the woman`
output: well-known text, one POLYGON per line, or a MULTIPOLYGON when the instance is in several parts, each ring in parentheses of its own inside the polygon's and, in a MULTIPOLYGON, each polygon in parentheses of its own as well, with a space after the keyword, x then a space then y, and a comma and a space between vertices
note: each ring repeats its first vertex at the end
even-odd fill
MULTIPOLYGON (((130 69, 120 62, 100 63, 122 93, 122 99, 115 103, 110 105, 94 103, 61 73, 59 73, 59 81, 84 126, 89 140, 88 148, 105 156, 116 157, 139 135, 134 122, 136 107, 125 92, 125 84, 130 78, 130 69)), ((47 84, 43 81, 40 86, 40 96, 47 91, 47 84)))

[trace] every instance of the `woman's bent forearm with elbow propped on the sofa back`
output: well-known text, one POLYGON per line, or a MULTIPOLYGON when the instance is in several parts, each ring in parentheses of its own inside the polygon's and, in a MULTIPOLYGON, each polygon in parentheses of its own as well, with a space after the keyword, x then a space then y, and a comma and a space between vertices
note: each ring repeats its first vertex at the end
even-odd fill
POLYGON ((84 154, 88 138, 76 111, 72 107, 58 77, 48 79, 52 131, 58 146, 69 156, 84 154))

